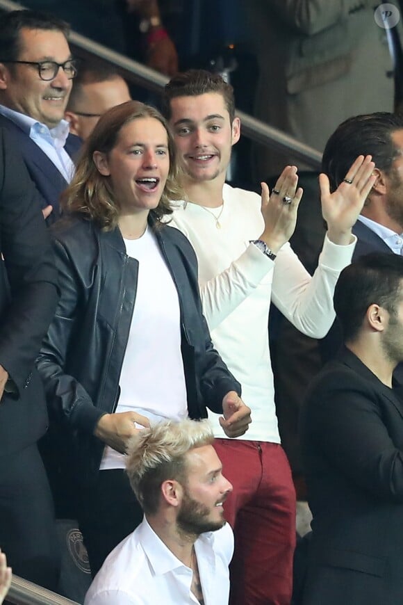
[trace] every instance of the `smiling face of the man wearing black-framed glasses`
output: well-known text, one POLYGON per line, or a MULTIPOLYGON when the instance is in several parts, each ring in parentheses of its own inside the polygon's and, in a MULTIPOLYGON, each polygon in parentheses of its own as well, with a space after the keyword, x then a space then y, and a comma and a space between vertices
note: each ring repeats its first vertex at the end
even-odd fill
MULTIPOLYGON (((56 61, 72 58, 65 35, 56 30, 23 28, 17 61, 56 61)), ((63 119, 72 80, 60 67, 56 78, 43 81, 35 65, 0 63, 0 102, 47 127, 63 119)))

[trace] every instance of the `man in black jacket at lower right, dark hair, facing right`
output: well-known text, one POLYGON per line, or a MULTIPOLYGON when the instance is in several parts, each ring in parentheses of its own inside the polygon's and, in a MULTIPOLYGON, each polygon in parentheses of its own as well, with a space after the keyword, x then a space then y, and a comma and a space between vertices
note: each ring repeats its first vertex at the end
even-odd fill
POLYGON ((306 605, 403 602, 403 258, 375 252, 341 273, 345 347, 313 381, 301 438, 313 513, 306 605))

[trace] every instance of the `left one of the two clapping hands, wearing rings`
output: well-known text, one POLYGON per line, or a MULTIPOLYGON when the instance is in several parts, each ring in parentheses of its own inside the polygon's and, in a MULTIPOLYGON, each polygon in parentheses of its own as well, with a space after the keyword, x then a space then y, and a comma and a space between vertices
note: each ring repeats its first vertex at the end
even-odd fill
POLYGON ((261 183, 261 187, 265 229, 259 239, 277 253, 293 235, 297 223, 297 209, 303 191, 298 187, 296 166, 284 168, 271 194, 267 184, 261 183))

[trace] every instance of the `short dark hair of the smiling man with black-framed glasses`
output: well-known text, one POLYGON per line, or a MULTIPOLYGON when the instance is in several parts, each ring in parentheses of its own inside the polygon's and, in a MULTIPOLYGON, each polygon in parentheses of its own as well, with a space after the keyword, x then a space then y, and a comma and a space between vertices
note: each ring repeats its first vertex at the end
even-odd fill
POLYGON ((38 10, 12 10, 0 19, 0 63, 17 61, 21 51, 22 29, 44 29, 60 31, 68 38, 69 24, 62 19, 41 13, 38 10))

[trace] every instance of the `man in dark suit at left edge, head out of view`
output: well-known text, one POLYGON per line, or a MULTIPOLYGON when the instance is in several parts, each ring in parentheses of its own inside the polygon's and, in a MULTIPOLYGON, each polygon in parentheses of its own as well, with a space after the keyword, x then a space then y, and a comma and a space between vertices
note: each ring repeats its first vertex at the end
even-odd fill
POLYGON ((53 503, 36 446, 47 410, 34 362, 58 293, 36 195, 0 129, 0 548, 16 574, 56 588, 53 503))

